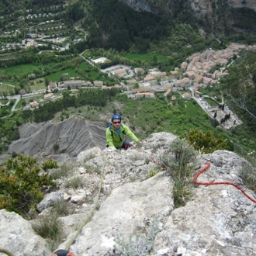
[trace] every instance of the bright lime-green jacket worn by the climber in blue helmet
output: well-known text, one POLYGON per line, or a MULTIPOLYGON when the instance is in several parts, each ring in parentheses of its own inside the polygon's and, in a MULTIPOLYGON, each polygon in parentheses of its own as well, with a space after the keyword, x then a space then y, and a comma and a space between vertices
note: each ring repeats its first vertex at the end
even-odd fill
POLYGON ((126 140, 126 135, 128 137, 130 137, 135 142, 140 141, 134 135, 134 133, 129 129, 128 126, 122 124, 120 126, 120 137, 116 133, 116 130, 114 129, 113 126, 107 128, 107 130, 106 130, 106 142, 109 145, 109 147, 121 147, 123 145, 123 142, 126 140))

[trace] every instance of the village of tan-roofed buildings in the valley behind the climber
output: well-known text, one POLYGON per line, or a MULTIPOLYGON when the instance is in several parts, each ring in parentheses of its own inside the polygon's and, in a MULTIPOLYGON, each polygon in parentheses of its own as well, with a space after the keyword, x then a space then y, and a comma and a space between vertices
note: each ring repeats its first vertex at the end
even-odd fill
MULTIPOLYGON (((199 92, 199 88, 217 87, 220 78, 225 77, 228 74, 227 68, 233 64, 234 56, 239 57, 241 50, 255 50, 256 46, 244 46, 237 43, 231 43, 224 50, 208 49, 202 53, 192 54, 186 62, 183 62, 181 67, 175 68, 175 71, 170 71, 169 74, 161 72, 157 68, 152 68, 147 71, 144 68, 129 67, 123 64, 117 64, 106 69, 101 69, 103 74, 109 77, 125 79, 119 84, 107 86, 103 81, 82 81, 81 79, 74 77, 67 79, 66 81, 49 81, 47 89, 34 90, 33 92, 26 92, 25 89, 19 91, 19 97, 17 95, 8 95, 8 99, 16 99, 16 104, 19 99, 25 99, 26 105, 23 109, 36 109, 40 105, 46 102, 60 99, 62 97, 63 90, 69 90, 72 94, 76 94, 80 89, 86 88, 98 88, 98 89, 111 89, 119 88, 121 92, 132 99, 155 99, 154 93, 163 93, 164 97, 172 95, 173 92, 178 92, 182 95, 184 100, 195 99, 199 106, 211 117, 216 118, 224 130, 229 130, 231 127, 241 124, 241 120, 238 116, 232 112, 227 105, 223 96, 215 97, 212 100, 216 102, 216 106, 211 106, 206 99, 210 97, 208 95, 202 95, 199 92), (221 66, 219 69, 211 73, 215 68, 221 66), (38 99, 39 96, 42 99, 38 99), (221 107, 220 107, 221 106, 221 107), (225 116, 229 116, 226 122, 221 122, 225 116)), ((92 66, 104 63, 107 58, 99 57, 97 59, 85 58, 83 54, 81 57, 92 66)), ((68 77, 68 74, 64 74, 68 77)), ((13 86, 13 85, 9 85, 13 86)), ((175 96, 171 96, 174 100, 175 96)), ((167 100, 168 102, 168 100, 167 100)), ((5 105, 8 105, 7 102, 5 105)), ((16 106, 15 104, 15 106, 16 106)), ((15 106, 12 110, 15 110, 15 106)))

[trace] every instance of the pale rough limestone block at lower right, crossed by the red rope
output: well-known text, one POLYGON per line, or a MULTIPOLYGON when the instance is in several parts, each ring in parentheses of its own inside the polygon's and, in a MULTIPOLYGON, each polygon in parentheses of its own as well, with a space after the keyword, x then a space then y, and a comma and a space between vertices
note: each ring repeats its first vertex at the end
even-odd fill
MULTIPOLYGON (((246 161, 236 154, 217 150, 202 157, 211 163, 199 180, 230 181, 240 184, 239 171, 246 161)), ((256 245, 256 208, 231 185, 199 186, 192 201, 175 209, 157 235, 154 255, 240 255, 252 256, 256 245), (165 255, 165 254, 164 254, 165 255)))

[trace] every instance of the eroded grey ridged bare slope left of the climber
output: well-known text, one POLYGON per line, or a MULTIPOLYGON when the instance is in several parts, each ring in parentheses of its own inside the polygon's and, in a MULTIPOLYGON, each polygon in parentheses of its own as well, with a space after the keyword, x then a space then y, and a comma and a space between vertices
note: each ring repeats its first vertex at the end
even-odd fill
POLYGON ((9 152, 36 157, 54 157, 64 153, 76 157, 81 151, 106 146, 106 123, 68 118, 60 123, 26 123, 19 128, 20 139, 9 146, 9 152), (59 149, 54 151, 54 144, 59 149))

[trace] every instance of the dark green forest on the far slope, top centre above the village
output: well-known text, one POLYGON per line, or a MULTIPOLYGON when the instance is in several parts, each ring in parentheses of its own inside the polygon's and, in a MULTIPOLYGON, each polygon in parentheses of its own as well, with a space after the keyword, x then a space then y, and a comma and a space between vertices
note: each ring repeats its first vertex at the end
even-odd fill
POLYGON ((170 35, 171 19, 150 12, 134 12, 116 0, 99 0, 93 2, 92 13, 82 27, 89 30, 88 43, 92 47, 129 50, 134 43, 145 53, 150 42, 170 35))

